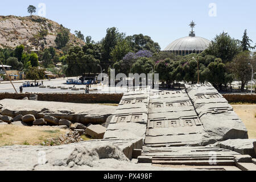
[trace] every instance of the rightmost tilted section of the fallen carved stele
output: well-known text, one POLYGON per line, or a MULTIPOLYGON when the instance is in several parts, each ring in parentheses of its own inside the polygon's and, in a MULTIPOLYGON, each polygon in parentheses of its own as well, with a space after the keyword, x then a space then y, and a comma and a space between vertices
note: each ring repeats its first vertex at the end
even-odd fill
POLYGON ((247 129, 233 107, 209 84, 185 84, 206 134, 203 145, 227 139, 247 139, 247 129))

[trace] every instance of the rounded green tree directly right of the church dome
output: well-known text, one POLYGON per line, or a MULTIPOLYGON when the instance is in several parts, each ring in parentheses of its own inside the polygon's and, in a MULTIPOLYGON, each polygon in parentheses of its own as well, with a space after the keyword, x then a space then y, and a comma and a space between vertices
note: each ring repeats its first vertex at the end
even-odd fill
POLYGON ((238 40, 232 39, 227 33, 223 32, 220 35, 216 35, 216 38, 212 40, 205 53, 220 58, 223 63, 232 61, 241 51, 238 40))

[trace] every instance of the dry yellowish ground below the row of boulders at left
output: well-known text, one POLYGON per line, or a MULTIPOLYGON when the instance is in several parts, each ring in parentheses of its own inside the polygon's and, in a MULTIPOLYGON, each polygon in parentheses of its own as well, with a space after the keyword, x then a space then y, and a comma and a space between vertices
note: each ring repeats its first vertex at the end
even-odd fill
POLYGON ((13 144, 40 145, 40 143, 60 137, 67 130, 56 129, 50 126, 15 126, 0 125, 0 147, 13 144))

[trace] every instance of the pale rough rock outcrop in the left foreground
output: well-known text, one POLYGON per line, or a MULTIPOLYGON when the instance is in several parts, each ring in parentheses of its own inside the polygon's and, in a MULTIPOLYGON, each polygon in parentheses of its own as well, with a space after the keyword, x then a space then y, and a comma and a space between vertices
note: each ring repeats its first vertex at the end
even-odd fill
MULTIPOLYGON (((134 164, 117 143, 118 140, 93 140, 53 147, 5 146, 0 148, 2 154, 0 170, 174 170, 147 164, 134 164)), ((125 141, 120 141, 121 146, 123 143, 125 141)))

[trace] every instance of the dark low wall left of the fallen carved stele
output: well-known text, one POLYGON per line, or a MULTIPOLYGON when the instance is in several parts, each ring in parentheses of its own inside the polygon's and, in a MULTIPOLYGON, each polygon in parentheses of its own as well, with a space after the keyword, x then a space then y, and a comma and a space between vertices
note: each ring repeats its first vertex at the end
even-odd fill
MULTIPOLYGON (((14 94, 14 93, 0 93, 0 100, 5 98, 11 98, 16 100, 22 100, 24 97, 30 97, 32 93, 14 94)), ((82 104, 103 104, 112 103, 119 104, 123 94, 47 94, 37 93, 38 101, 54 101, 54 102, 72 102, 82 104)))

